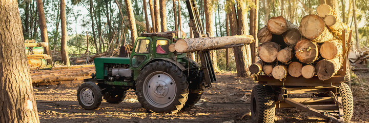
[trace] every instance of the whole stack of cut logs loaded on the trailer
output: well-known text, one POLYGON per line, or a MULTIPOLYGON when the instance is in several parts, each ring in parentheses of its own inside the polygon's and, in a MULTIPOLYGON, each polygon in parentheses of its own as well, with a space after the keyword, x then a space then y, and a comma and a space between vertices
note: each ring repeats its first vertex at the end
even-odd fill
POLYGON ((287 75, 304 78, 317 75, 320 80, 327 80, 342 66, 344 30, 349 32, 350 29, 326 4, 318 6, 317 15, 304 16, 300 27, 282 16, 272 17, 257 34, 262 43, 258 47, 260 60, 249 70, 252 74, 263 72, 275 79, 287 75))

